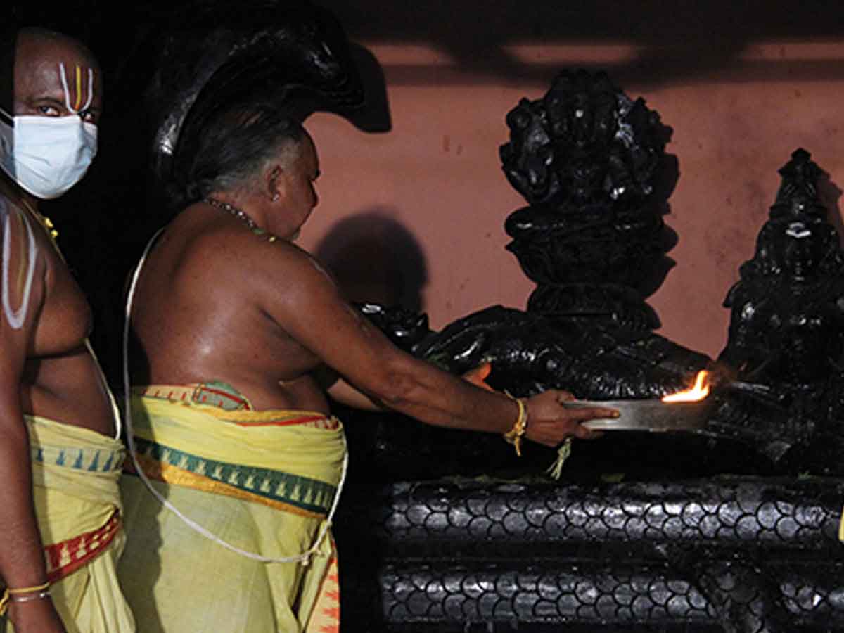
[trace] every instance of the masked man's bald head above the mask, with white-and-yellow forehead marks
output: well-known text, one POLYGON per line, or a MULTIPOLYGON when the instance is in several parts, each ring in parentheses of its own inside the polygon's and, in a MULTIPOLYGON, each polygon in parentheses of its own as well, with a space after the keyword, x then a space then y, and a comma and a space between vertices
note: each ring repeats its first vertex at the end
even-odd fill
POLYGON ((81 42, 44 29, 18 33, 14 57, 14 115, 80 115, 97 122, 102 79, 94 55, 81 42))

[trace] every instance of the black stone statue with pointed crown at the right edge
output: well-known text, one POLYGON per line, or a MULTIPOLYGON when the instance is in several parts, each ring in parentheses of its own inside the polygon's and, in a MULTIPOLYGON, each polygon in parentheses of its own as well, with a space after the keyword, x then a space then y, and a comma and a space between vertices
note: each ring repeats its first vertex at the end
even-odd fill
POLYGON ((719 360, 738 383, 710 430, 754 442, 782 468, 842 474, 844 252, 809 152, 795 151, 780 175, 755 256, 724 302, 719 360))

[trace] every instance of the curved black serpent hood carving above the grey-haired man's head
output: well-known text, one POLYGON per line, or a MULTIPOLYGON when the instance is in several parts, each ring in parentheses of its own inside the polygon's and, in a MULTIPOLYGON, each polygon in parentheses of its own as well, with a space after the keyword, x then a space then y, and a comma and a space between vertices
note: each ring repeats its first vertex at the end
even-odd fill
POLYGON ((318 110, 351 116, 365 105, 344 31, 316 5, 193 3, 172 24, 147 91, 152 170, 170 194, 179 191, 181 156, 195 153, 203 118, 220 103, 270 100, 299 121, 318 110))

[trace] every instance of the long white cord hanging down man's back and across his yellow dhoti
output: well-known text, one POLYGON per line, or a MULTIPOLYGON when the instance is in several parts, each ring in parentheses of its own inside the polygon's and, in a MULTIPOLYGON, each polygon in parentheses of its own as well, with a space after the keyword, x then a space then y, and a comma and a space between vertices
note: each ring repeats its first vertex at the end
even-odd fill
POLYGON ((334 512, 337 511, 337 506, 340 501, 340 493, 343 491, 343 486, 346 481, 346 473, 349 470, 349 449, 346 446, 346 438, 343 437, 343 467, 340 473, 340 481, 337 485, 337 492, 334 494, 334 500, 331 506, 331 510, 328 512, 327 517, 322 521, 322 526, 320 527, 319 533, 317 533, 317 538, 314 541, 314 544, 311 546, 311 549, 307 549, 306 551, 302 552, 298 556, 284 556, 281 558, 273 558, 270 556, 263 556, 260 554, 256 554, 255 552, 249 552, 245 549, 241 549, 227 543, 222 538, 219 538, 214 533, 208 531, 206 527, 201 526, 199 523, 193 521, 191 518, 186 517, 176 506, 174 506, 170 501, 166 500, 163 495, 160 494, 158 490, 155 490, 152 482, 149 481, 146 473, 143 472, 143 468, 141 468, 140 463, 138 463, 138 456, 137 456, 137 448, 135 447, 135 434, 133 432, 133 425, 132 425, 132 384, 129 379, 129 322, 132 317, 132 302, 135 295, 135 288, 138 285, 138 278, 141 276, 141 268, 143 268, 143 263, 146 261, 146 258, 149 256, 149 251, 154 245, 155 241, 158 239, 158 236, 164 229, 160 229, 153 238, 147 244, 147 247, 143 250, 143 255, 141 255, 141 259, 138 262, 138 266, 135 267, 135 270, 132 273, 132 280, 129 283, 129 290, 127 292, 127 299, 126 299, 126 315, 125 320, 123 323, 123 397, 125 398, 125 406, 126 406, 126 441, 129 448, 129 457, 132 459, 132 463, 135 467, 135 472, 138 473, 138 477, 143 481, 143 484, 149 489, 149 492, 160 501, 162 506, 165 506, 168 510, 172 511, 176 514, 176 517, 179 517, 182 522, 185 522, 187 527, 190 527, 195 532, 202 534, 205 538, 208 538, 214 543, 222 545, 225 549, 230 549, 231 551, 235 552, 236 554, 240 554, 242 556, 246 556, 246 558, 257 560, 262 563, 301 563, 302 565, 307 565, 312 555, 317 555, 319 551, 320 544, 322 540, 326 538, 328 533, 328 528, 331 527, 331 523, 334 517, 334 512))

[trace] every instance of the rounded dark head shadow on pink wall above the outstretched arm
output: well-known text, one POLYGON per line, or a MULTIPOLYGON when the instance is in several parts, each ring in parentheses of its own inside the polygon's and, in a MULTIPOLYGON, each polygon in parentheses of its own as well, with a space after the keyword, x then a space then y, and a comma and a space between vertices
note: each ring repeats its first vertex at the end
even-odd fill
POLYGON ((333 226, 314 255, 333 274, 349 301, 422 311, 428 267, 419 241, 392 219, 387 208, 372 208, 333 226))

